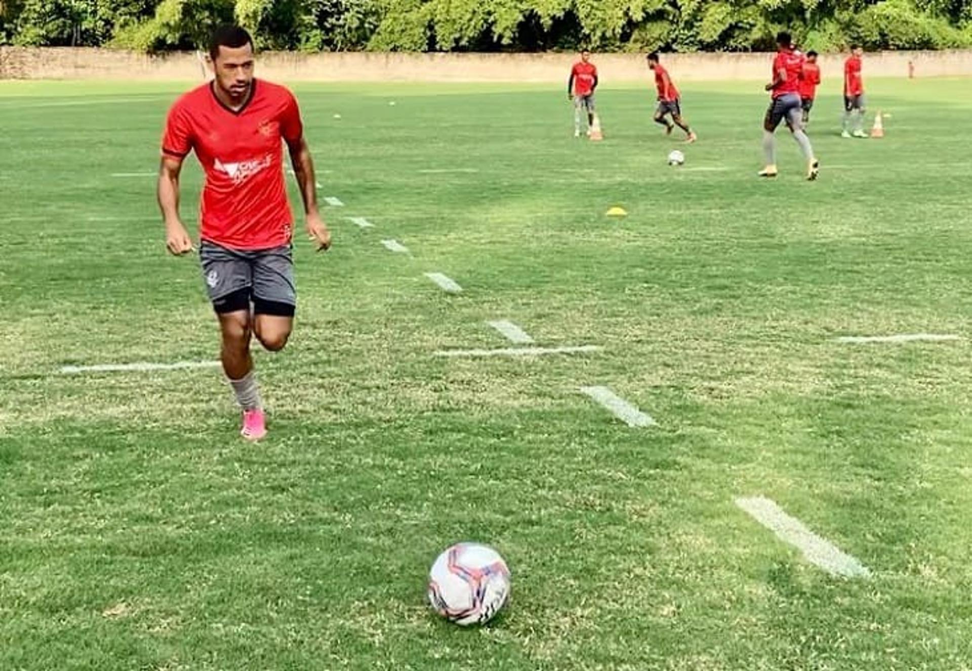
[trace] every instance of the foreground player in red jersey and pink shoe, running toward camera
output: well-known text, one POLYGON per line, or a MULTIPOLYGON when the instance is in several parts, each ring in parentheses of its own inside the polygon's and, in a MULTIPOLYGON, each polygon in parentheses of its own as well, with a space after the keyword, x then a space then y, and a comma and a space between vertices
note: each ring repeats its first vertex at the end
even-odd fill
POLYGON ((319 251, 330 247, 330 231, 318 213, 314 163, 293 93, 254 78, 253 40, 240 27, 218 29, 209 55, 215 79, 183 95, 169 111, 158 204, 169 252, 187 254, 192 241, 179 216, 179 173, 194 151, 206 173, 199 260, 223 336, 223 370, 243 411, 240 433, 256 441, 266 434, 266 423, 251 335, 278 351, 294 326, 294 217, 282 143, 294 165, 307 232, 319 251))

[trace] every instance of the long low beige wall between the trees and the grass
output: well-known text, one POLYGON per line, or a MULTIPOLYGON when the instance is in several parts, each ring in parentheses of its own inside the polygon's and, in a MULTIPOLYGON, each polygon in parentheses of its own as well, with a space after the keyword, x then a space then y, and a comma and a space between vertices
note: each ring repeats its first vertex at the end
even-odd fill
MULTIPOLYGON (((842 55, 821 57, 824 70, 840 72, 842 55)), ((664 62, 679 82, 766 80, 766 53, 673 53, 664 62)), ((282 82, 548 82, 564 83, 573 53, 261 53, 260 77, 282 82)), ((972 75, 972 51, 866 54, 869 77, 903 77, 908 61, 916 76, 972 75)), ((644 80, 639 53, 595 54, 602 81, 644 80)), ((0 79, 195 80, 194 53, 148 56, 103 49, 0 47, 0 79)))

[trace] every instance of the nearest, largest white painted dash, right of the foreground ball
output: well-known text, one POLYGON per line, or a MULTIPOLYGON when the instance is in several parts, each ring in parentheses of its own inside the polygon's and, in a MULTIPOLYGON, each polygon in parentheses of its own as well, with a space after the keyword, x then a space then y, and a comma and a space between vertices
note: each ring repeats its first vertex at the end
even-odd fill
POLYGON ((783 512, 770 499, 761 496, 740 498, 736 499, 736 505, 775 533, 781 541, 799 549, 808 561, 827 573, 845 578, 867 578, 871 575, 867 567, 850 554, 817 536, 803 522, 783 512))

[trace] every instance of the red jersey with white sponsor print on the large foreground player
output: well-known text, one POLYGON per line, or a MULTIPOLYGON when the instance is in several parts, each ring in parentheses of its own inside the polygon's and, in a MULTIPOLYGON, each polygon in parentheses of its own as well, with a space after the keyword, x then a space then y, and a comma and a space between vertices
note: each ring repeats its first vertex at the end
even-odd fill
POLYGON ((249 101, 234 112, 214 84, 194 88, 169 110, 162 154, 195 151, 206 172, 199 203, 200 234, 231 249, 288 244, 294 215, 284 183, 281 139, 295 143, 303 124, 294 94, 253 80, 249 101))

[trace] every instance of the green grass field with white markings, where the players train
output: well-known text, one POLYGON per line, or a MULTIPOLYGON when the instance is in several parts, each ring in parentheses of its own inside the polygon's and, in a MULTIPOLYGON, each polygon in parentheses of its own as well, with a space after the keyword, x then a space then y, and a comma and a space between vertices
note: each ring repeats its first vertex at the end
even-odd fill
POLYGON ((683 87, 681 169, 646 88, 600 91, 600 144, 560 87, 295 88, 345 206, 327 255, 296 238, 259 445, 218 371, 59 371, 216 356, 152 176, 113 176, 190 85, 0 84, 0 669, 972 668, 969 341, 834 341, 969 335, 972 88, 872 81, 887 137, 850 141, 830 84, 814 184, 782 133, 755 178, 758 83, 683 87), (498 319, 603 350, 434 356, 510 346, 498 319), (513 572, 471 630, 425 601, 467 539, 513 572))

